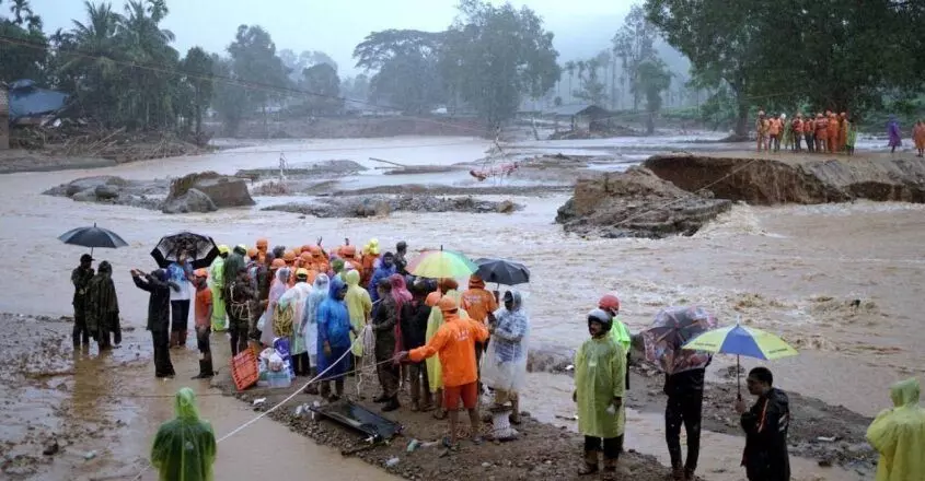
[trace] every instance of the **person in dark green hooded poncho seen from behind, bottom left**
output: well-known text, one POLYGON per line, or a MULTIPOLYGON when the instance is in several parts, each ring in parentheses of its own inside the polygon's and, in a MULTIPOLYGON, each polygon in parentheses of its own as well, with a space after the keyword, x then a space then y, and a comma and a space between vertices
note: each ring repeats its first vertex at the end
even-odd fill
POLYGON ((176 419, 161 424, 151 447, 151 465, 161 481, 210 481, 216 460, 216 434, 199 420, 196 395, 184 387, 176 392, 176 419))

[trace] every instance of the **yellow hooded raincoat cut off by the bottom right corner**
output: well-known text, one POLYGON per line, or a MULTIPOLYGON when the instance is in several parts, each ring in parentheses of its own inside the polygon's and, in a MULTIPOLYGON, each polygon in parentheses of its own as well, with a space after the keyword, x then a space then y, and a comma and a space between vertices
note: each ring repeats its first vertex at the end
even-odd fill
POLYGON ((925 409, 918 407, 915 378, 894 384, 894 408, 882 411, 867 429, 867 441, 880 453, 877 481, 925 479, 925 409))

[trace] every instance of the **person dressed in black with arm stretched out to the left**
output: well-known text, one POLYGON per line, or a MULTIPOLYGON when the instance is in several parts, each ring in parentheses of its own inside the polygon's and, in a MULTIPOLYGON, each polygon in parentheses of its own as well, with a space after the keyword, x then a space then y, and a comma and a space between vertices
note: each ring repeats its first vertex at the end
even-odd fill
POLYGON ((150 274, 132 269, 131 280, 138 289, 151 294, 148 300, 148 330, 154 344, 154 376, 173 377, 176 372, 170 359, 170 275, 164 269, 150 274))

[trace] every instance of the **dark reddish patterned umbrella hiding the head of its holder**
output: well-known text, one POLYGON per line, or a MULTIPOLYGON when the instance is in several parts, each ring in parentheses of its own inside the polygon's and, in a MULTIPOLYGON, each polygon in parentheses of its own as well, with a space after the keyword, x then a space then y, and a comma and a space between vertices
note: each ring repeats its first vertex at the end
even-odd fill
POLYGON ((703 307, 662 309, 652 325, 641 332, 646 361, 669 375, 704 367, 709 362, 709 354, 689 351, 683 345, 715 327, 716 318, 703 307))

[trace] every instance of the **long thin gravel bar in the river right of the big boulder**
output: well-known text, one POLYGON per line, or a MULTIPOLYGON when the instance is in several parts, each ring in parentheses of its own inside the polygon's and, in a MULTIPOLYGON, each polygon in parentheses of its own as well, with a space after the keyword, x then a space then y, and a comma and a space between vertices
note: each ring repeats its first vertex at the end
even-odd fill
POLYGON ((523 207, 510 200, 481 200, 472 196, 441 198, 427 195, 370 196, 370 197, 324 197, 313 203, 290 202, 270 206, 262 210, 292 212, 315 218, 372 218, 391 212, 470 212, 511 213, 523 207))

